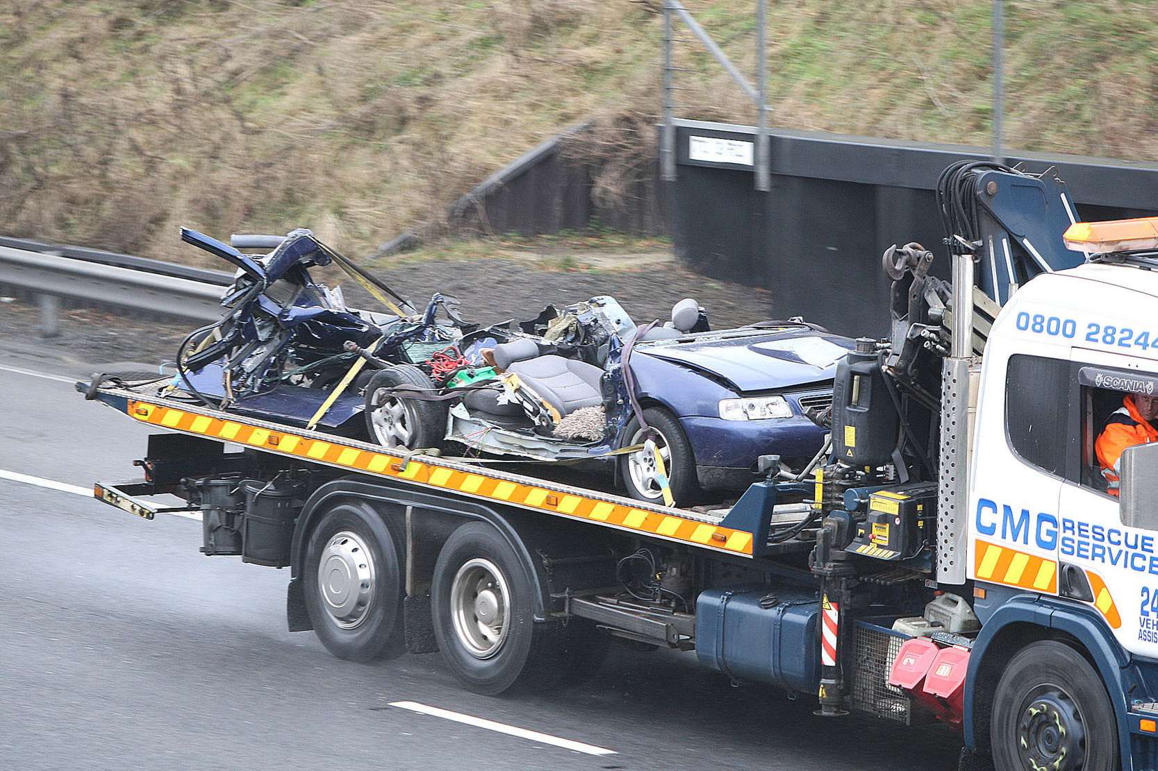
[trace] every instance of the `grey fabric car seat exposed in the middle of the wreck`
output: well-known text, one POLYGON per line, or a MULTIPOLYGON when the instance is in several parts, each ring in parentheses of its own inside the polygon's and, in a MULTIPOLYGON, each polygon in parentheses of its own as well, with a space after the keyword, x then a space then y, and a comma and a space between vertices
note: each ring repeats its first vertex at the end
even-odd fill
POLYGON ((530 390, 558 411, 559 417, 603 403, 599 387, 602 369, 576 359, 541 354, 534 340, 518 339, 496 345, 494 364, 519 375, 530 390))

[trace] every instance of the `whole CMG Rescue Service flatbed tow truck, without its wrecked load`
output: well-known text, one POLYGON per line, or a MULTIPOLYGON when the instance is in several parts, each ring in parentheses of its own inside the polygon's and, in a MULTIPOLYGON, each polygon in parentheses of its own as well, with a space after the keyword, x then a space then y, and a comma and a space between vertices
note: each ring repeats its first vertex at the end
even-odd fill
POLYGON ((918 244, 886 252, 892 336, 841 365, 826 450, 805 472, 765 456, 731 506, 105 377, 78 390, 163 433, 144 478, 95 495, 198 511, 204 553, 290 567, 290 629, 344 659, 440 651, 499 693, 581 675, 609 640, 668 646, 820 715, 959 726, 962 769, 1156 769, 1158 443, 1126 450, 1114 497, 1093 442, 1123 394, 1158 388, 1158 219, 1076 222, 1049 174, 951 182, 952 284, 918 244))

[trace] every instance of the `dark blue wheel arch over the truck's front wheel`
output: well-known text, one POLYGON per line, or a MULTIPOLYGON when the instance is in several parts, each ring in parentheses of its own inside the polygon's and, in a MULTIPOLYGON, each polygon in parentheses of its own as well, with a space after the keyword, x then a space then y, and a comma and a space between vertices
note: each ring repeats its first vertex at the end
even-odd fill
POLYGON ((1117 741, 1124 769, 1129 769, 1130 728, 1123 668, 1130 659, 1092 609, 1062 599, 1018 595, 989 618, 969 655, 966 675, 963 733, 970 750, 989 751, 989 714, 994 691, 1004 664, 1031 642, 1060 640, 1082 653, 1101 678, 1114 705, 1117 741))

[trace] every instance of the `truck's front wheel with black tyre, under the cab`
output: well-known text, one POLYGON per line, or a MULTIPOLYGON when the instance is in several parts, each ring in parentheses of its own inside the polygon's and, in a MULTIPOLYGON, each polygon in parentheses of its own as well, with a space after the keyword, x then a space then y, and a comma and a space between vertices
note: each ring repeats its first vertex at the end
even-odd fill
POLYGON ((1106 688, 1085 656, 1056 640, 1026 646, 1005 667, 990 732, 1001 771, 1120 768, 1106 688))

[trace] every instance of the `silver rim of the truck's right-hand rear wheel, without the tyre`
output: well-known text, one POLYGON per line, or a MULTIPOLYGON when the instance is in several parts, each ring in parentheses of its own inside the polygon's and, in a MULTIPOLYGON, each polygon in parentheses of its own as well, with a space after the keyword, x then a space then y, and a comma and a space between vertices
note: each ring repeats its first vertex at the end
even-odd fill
POLYGON ((450 586, 450 619, 463 649, 476 659, 490 659, 507 637, 511 596, 503 573, 489 559, 468 560, 450 586))

